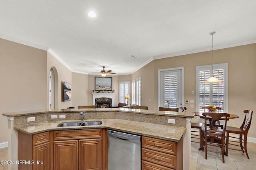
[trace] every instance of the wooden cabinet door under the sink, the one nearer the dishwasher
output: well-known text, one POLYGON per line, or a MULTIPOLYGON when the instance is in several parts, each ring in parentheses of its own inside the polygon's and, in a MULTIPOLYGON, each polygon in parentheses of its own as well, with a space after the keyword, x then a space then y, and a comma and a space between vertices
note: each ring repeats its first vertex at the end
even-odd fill
POLYGON ((102 169, 102 138, 79 140, 79 170, 102 169))

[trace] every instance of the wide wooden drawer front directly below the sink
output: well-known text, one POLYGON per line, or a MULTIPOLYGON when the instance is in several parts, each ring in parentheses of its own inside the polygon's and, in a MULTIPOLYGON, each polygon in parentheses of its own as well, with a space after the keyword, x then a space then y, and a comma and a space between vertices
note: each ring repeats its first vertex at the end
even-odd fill
POLYGON ((53 140, 102 138, 102 129, 55 130, 53 140))

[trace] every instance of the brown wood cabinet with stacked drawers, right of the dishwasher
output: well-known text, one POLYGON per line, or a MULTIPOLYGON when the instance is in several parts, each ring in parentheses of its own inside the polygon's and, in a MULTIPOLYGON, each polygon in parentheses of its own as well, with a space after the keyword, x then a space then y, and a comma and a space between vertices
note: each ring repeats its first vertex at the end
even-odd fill
POLYGON ((183 169, 183 138, 172 142, 142 136, 142 170, 175 169, 183 169))

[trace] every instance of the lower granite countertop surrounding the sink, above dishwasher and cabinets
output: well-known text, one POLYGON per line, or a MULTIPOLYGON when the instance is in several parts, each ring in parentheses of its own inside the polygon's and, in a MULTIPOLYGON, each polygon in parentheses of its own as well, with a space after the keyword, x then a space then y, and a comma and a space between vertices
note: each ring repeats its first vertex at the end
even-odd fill
POLYGON ((128 132, 132 134, 138 134, 142 136, 149 136, 164 140, 170 140, 179 142, 182 138, 186 128, 174 127, 168 125, 159 125, 154 123, 144 123, 136 121, 128 121, 122 119, 90 119, 85 121, 102 121, 102 125, 82 126, 82 127, 57 127, 58 124, 64 122, 81 122, 78 120, 68 121, 44 121, 34 123, 30 125, 15 126, 16 130, 20 130, 27 134, 37 134, 40 132, 46 132, 49 130, 73 130, 73 129, 90 129, 90 128, 107 128, 112 130, 119 130, 122 132, 128 132))

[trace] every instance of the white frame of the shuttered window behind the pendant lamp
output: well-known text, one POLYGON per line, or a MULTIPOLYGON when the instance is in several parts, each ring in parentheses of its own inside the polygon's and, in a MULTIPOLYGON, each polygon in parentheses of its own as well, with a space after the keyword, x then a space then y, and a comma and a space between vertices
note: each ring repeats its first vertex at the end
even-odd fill
MULTIPOLYGON (((213 69, 224 69, 224 113, 228 113, 228 63, 220 63, 214 64, 213 69)), ((200 102, 199 102, 199 88, 200 88, 200 71, 210 71, 210 75, 212 74, 212 65, 201 65, 196 66, 196 111, 200 111, 200 102)))

